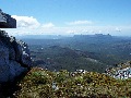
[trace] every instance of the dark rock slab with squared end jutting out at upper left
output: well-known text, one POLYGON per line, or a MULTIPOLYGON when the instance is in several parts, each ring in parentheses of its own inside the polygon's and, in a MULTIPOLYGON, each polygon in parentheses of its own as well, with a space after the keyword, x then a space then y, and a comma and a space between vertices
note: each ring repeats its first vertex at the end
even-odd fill
POLYGON ((16 20, 0 9, 0 28, 16 28, 16 20))

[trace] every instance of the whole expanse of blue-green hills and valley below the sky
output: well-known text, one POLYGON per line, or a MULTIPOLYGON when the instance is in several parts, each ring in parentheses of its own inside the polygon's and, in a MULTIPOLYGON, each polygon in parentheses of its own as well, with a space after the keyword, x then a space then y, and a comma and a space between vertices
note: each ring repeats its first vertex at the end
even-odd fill
POLYGON ((109 34, 26 37, 22 40, 28 44, 35 64, 40 63, 50 70, 104 72, 107 66, 131 60, 130 37, 109 34), (51 58, 53 63, 47 64, 47 58, 51 58))

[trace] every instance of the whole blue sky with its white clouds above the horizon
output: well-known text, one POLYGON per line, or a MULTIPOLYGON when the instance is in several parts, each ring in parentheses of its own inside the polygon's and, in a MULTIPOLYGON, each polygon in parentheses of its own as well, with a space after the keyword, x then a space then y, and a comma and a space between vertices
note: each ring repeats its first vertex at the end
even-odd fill
POLYGON ((131 0, 0 0, 16 19, 9 35, 131 36, 131 0))

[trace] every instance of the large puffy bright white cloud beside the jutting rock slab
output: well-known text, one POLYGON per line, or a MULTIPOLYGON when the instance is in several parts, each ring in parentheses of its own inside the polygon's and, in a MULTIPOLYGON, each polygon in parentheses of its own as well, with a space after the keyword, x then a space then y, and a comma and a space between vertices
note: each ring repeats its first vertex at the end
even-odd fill
POLYGON ((12 17, 16 20, 17 27, 37 28, 40 25, 40 23, 33 16, 12 15, 12 17))

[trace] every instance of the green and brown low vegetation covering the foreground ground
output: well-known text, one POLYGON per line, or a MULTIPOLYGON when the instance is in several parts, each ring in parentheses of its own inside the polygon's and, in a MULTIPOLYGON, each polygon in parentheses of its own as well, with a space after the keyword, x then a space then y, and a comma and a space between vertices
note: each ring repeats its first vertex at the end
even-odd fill
POLYGON ((16 98, 131 98, 131 78, 97 72, 51 72, 33 68, 19 84, 16 98))

